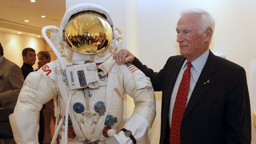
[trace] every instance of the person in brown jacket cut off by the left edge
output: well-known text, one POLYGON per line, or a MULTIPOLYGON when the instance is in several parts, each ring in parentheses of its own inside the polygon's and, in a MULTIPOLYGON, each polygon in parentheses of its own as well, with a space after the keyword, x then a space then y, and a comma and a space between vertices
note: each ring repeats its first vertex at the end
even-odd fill
MULTIPOLYGON (((20 67, 4 57, 4 49, 0 43, 0 108, 15 107, 23 82, 20 67)), ((2 113, 1 117, 3 117, 2 113)), ((3 130, 4 127, 0 127, 0 129, 3 130)), ((2 138, 1 136, 0 144, 7 143, 15 143, 15 141, 13 138, 2 138)))

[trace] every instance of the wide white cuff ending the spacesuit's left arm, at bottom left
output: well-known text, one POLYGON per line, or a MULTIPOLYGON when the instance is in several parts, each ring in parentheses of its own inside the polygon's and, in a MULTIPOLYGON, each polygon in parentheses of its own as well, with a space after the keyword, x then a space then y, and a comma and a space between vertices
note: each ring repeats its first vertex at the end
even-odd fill
POLYGON ((9 116, 9 121, 18 144, 39 144, 39 111, 18 111, 9 116))

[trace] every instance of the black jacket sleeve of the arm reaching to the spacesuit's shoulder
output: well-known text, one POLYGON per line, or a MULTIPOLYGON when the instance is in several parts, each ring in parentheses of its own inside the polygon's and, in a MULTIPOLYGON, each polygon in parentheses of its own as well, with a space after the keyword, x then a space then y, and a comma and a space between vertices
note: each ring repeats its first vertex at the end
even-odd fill
POLYGON ((159 72, 154 72, 152 69, 148 68, 146 65, 143 65, 137 57, 132 62, 133 65, 135 65, 137 68, 140 69, 143 73, 145 73, 146 76, 148 76, 151 79, 152 86, 154 91, 162 91, 164 82, 164 72, 167 68, 167 64, 165 64, 164 68, 161 69, 159 72))

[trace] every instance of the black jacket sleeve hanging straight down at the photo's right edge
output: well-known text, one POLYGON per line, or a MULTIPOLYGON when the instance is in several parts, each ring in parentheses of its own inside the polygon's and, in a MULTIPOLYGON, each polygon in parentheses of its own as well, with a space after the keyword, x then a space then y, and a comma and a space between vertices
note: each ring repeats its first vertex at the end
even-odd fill
POLYGON ((251 110, 245 70, 232 72, 226 105, 226 140, 228 143, 251 143, 251 110))

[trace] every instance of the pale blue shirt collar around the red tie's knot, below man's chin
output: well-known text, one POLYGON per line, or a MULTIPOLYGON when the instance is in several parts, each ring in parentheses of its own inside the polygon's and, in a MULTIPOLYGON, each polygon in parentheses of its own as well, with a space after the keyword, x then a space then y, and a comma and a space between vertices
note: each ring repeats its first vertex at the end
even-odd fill
MULTIPOLYGON (((203 55, 197 57, 195 60, 193 60, 191 63, 193 65, 193 68, 196 69, 197 72, 201 72, 206 60, 209 56, 209 49, 206 50, 206 52, 203 53, 203 55)), ((183 63, 182 69, 187 68, 187 60, 185 60, 185 62, 183 63)))

